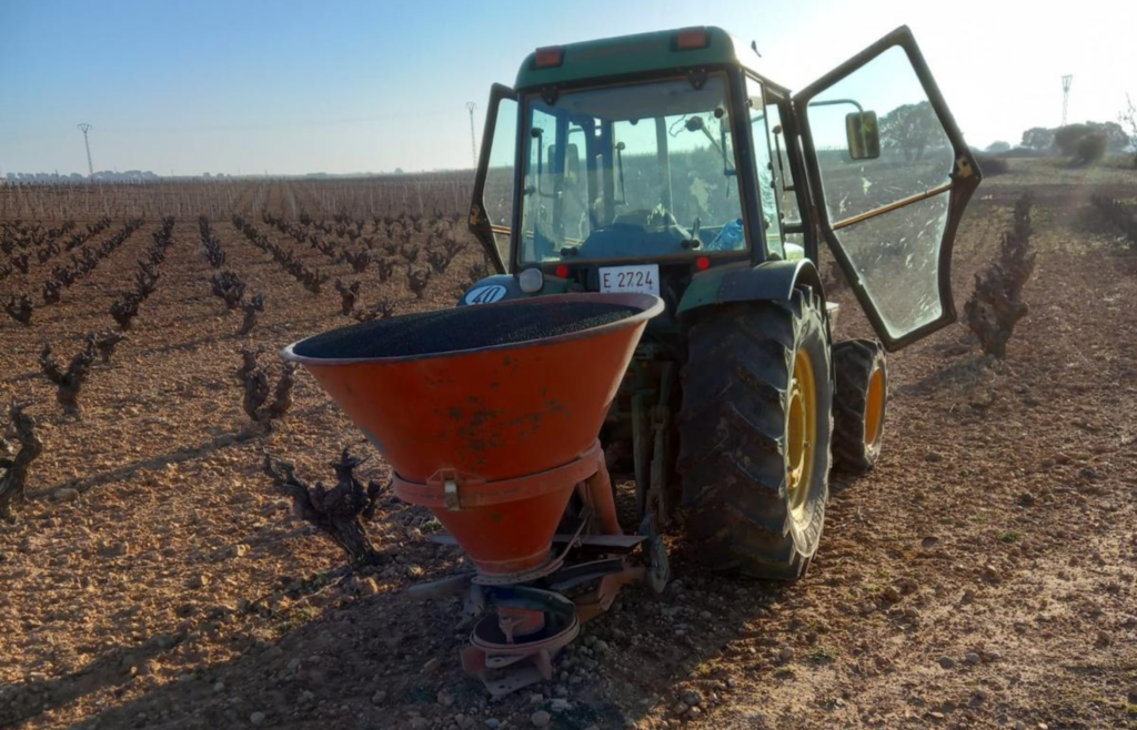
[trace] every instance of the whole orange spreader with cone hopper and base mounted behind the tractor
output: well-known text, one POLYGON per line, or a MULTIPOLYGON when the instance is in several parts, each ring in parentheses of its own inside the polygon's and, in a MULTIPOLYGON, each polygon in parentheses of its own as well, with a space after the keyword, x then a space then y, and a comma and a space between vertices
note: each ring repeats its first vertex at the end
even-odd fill
POLYGON ((551 679, 557 652, 620 587, 662 589, 662 540, 624 535, 598 440, 647 320, 645 294, 573 294, 408 314, 294 343, 379 448, 395 493, 428 507, 473 570, 412 591, 460 594, 466 671, 492 695, 551 679), (641 546, 645 565, 630 560, 641 546))

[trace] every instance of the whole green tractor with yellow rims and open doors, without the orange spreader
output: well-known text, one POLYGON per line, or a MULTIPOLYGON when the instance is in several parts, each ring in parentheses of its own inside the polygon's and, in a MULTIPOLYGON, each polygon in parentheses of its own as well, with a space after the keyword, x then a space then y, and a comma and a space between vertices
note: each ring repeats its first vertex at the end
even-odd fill
POLYGON ((796 94, 760 66, 714 27, 529 56, 492 89, 470 210, 498 274, 460 304, 661 296, 601 434, 614 480, 641 534, 679 518, 697 560, 796 579, 831 468, 880 455, 885 352, 955 320, 981 175, 906 27, 796 94), (822 240, 879 341, 832 341, 822 240))

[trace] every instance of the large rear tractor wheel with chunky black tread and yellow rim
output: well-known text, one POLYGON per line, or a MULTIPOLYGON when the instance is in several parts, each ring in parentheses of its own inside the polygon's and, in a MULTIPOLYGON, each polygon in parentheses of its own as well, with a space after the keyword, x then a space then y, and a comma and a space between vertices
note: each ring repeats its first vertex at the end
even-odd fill
POLYGON ((829 497, 832 396, 812 290, 724 305, 690 327, 679 469, 696 560, 757 578, 805 573, 829 497))

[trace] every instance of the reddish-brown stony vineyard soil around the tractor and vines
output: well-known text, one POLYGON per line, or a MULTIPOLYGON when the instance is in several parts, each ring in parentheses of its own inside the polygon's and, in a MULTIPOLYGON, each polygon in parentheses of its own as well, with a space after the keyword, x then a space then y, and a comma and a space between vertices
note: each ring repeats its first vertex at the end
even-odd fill
MULTIPOLYGON (((271 434, 242 412, 241 346, 263 346, 275 372, 281 346, 347 324, 331 282, 309 294, 215 220, 224 268, 267 299, 238 337, 184 215, 157 291, 80 397, 82 420, 63 413, 42 344, 66 363, 114 326, 107 308, 159 227, 149 218, 31 327, 0 322, 0 402, 32 403, 45 444, 31 501, 0 523, 0 727, 529 728, 543 708, 575 730, 1137 728, 1137 267, 1088 204, 1095 190, 1135 202, 1137 178, 1012 166, 972 203, 955 292, 962 310, 1030 190, 1030 312, 1002 363, 985 364, 963 326, 890 358, 886 454, 835 483, 805 580, 709 576, 674 544, 664 595, 625 588, 557 681, 492 703, 458 665, 458 606, 404 593, 458 564, 423 538, 428 513, 384 497, 368 529, 387 562, 340 580, 341 553, 260 472, 271 453, 330 480, 350 446, 371 455, 360 476, 385 477, 306 374, 271 434)), ((281 195, 241 204, 284 210, 281 195)), ((321 274, 355 278, 248 218, 321 274)), ((471 246, 423 300, 401 272, 358 278, 372 305, 449 307, 479 258, 471 246)), ((28 291, 39 304, 52 263, 0 282, 0 300, 28 291)), ((846 303, 839 334, 866 334, 846 303)))

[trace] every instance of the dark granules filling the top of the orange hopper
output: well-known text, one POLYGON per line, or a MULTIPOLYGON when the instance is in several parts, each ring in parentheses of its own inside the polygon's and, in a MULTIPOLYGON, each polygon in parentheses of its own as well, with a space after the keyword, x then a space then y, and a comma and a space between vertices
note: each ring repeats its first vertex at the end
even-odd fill
POLYGON ((333 329, 300 342, 293 352, 326 360, 442 354, 567 335, 637 312, 603 302, 458 307, 333 329))

